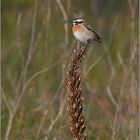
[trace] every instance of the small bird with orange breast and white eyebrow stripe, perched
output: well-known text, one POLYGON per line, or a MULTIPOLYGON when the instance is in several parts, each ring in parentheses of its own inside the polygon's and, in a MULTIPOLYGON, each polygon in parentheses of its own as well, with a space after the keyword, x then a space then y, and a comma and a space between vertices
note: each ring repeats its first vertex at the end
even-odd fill
POLYGON ((84 44, 88 44, 91 41, 97 41, 101 43, 101 37, 95 32, 90 25, 88 25, 83 19, 73 20, 73 34, 77 40, 84 44))

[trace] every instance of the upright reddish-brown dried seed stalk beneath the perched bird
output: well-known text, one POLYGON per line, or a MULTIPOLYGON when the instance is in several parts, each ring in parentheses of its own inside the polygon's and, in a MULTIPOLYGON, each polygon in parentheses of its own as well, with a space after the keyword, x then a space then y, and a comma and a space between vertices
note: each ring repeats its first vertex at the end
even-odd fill
POLYGON ((86 47, 74 50, 71 57, 70 68, 67 72, 67 93, 68 93, 68 114, 70 120, 70 130, 75 140, 86 140, 84 133, 84 112, 82 89, 80 88, 80 68, 79 64, 86 53, 86 47))

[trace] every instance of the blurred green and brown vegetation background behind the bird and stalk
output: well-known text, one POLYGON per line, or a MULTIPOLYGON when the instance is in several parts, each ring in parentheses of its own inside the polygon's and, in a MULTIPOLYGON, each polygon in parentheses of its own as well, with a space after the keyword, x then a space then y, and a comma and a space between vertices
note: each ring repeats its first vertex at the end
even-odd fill
POLYGON ((68 21, 64 21, 57 0, 2 0, 2 139, 6 140, 10 114, 17 105, 9 140, 72 139, 67 106, 63 106, 65 76, 69 55, 77 46, 71 21, 82 17, 103 38, 102 45, 90 45, 82 67, 88 139, 137 140, 138 0, 60 2, 68 21))

